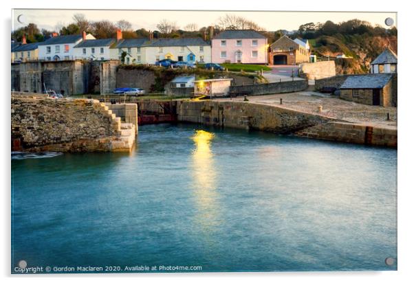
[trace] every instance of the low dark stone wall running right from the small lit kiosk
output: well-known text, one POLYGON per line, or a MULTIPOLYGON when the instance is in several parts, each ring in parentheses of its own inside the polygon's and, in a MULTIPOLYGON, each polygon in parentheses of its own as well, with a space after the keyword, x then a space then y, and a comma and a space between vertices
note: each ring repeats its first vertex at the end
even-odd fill
POLYGON ((304 91, 307 89, 306 80, 294 80, 292 82, 272 82, 269 84, 250 84, 243 86, 231 86, 231 95, 263 95, 274 93, 289 93, 304 91))

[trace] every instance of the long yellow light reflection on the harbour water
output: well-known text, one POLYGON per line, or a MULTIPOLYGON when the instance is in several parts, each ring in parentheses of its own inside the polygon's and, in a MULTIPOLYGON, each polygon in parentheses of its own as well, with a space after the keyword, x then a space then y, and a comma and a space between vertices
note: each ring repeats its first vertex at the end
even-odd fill
POLYGON ((214 134, 198 130, 192 137, 195 149, 193 150, 193 180, 195 202, 199 214, 197 222, 202 229, 209 230, 217 225, 217 170, 214 164, 214 155, 211 151, 211 141, 214 134))

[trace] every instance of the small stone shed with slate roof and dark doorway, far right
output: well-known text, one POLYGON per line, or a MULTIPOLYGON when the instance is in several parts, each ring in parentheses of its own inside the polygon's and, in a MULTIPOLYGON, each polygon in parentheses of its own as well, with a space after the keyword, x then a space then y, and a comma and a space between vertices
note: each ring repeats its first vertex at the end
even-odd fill
POLYGON ((397 80, 392 73, 348 76, 340 86, 340 98, 361 104, 397 106, 397 80))

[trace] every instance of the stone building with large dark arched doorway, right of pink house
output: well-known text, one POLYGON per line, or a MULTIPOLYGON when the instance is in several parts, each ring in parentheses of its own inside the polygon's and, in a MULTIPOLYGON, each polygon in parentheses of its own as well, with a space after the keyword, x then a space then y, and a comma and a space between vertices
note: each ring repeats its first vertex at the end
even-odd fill
POLYGON ((270 65, 296 65, 298 63, 309 63, 310 48, 309 43, 298 43, 301 39, 292 40, 287 36, 282 36, 270 45, 269 64, 270 65))

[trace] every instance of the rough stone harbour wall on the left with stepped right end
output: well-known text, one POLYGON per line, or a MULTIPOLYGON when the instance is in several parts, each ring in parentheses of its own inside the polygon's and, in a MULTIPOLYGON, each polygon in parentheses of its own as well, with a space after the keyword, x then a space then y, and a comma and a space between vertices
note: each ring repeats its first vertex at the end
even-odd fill
POLYGON ((125 124, 98 100, 12 98, 12 150, 130 150, 134 126, 125 124), (128 132, 127 136, 122 131, 128 132))

